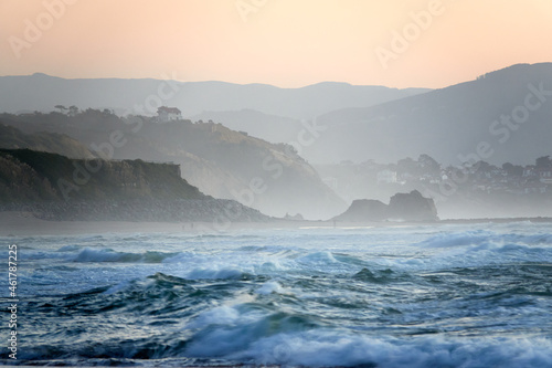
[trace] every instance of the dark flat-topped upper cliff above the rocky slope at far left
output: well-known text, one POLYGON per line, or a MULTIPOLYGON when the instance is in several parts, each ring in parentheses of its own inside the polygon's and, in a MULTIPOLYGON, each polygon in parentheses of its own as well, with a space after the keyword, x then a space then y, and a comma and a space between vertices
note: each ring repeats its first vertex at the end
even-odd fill
POLYGON ((70 159, 29 149, 0 150, 6 202, 30 200, 203 199, 173 164, 70 159))

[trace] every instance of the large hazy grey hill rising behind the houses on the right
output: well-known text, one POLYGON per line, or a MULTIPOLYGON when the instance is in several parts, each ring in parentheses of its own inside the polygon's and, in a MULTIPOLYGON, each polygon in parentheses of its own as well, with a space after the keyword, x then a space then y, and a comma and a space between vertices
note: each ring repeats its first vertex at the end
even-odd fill
POLYGON ((393 162, 428 154, 452 165, 528 164, 550 150, 552 63, 519 64, 476 81, 319 117, 314 162, 393 162))

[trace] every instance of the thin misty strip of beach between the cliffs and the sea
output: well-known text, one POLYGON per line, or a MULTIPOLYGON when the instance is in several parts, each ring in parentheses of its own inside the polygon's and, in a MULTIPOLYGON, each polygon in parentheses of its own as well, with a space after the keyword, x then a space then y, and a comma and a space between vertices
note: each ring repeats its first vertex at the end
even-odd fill
POLYGON ((333 221, 294 221, 273 219, 266 222, 145 222, 145 221, 54 221, 41 220, 31 212, 2 211, 0 212, 0 236, 24 235, 71 235, 97 233, 216 233, 235 230, 254 229, 333 229, 333 228, 393 228, 415 225, 446 225, 446 224, 480 224, 509 222, 552 223, 552 218, 495 218, 495 219, 447 219, 435 222, 333 222, 333 221))

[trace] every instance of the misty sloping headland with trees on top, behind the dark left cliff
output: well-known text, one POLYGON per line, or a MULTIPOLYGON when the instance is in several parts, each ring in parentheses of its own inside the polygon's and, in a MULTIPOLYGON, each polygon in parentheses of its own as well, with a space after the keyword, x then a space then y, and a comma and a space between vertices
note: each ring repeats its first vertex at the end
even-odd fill
POLYGON ((307 219, 322 219, 347 206, 293 147, 269 144, 221 124, 156 123, 95 109, 76 116, 3 114, 0 124, 33 136, 64 134, 105 158, 178 164, 182 177, 205 194, 236 200, 269 215, 301 213, 307 219))

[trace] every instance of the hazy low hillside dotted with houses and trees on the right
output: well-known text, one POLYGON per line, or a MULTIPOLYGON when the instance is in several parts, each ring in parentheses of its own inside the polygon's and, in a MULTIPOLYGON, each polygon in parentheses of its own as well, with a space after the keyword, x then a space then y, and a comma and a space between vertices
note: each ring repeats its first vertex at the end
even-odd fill
POLYGON ((317 169, 325 182, 347 199, 364 198, 367 193, 383 197, 388 192, 424 188, 438 191, 449 183, 457 188, 455 192, 458 194, 552 196, 552 160, 545 157, 540 160, 539 165, 528 166, 506 164, 497 167, 478 162, 465 167, 443 167, 426 156, 425 160, 405 159, 392 165, 344 161, 317 166, 317 169), (545 164, 542 165, 542 161, 545 164))

